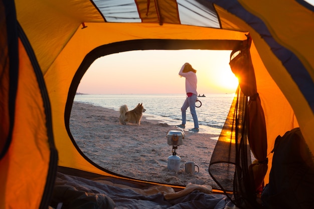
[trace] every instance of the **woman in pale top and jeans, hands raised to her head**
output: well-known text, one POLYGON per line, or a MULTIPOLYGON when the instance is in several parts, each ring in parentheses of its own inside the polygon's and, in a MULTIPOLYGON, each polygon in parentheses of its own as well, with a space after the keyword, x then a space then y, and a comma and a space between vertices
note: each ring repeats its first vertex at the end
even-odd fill
POLYGON ((190 107, 191 115, 193 117, 194 121, 194 128, 189 129, 189 131, 193 132, 199 132, 199 121, 196 115, 196 110, 195 110, 195 102, 197 100, 197 77, 196 77, 196 70, 193 69, 192 65, 189 63, 185 63, 180 72, 179 72, 180 77, 185 77, 186 78, 186 93, 187 93, 187 98, 184 101, 182 107, 181 107, 181 112, 182 112, 182 124, 177 125, 179 128, 185 128, 186 124, 186 118, 187 114, 186 111, 188 107, 190 107))

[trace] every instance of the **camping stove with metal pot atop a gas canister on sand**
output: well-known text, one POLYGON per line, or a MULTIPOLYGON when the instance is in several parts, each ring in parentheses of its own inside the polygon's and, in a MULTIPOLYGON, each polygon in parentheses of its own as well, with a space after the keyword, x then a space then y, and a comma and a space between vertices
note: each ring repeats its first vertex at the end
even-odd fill
POLYGON ((170 170, 179 171, 181 157, 177 155, 178 146, 183 144, 184 132, 183 131, 168 131, 167 133, 168 144, 172 145, 172 155, 168 157, 168 166, 170 170))

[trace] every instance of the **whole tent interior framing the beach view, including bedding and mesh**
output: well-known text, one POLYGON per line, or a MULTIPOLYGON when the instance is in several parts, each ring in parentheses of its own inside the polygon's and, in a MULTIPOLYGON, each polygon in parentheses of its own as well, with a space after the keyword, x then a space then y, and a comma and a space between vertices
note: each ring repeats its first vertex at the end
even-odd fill
MULTIPOLYGON (((314 152, 314 9, 305 1, 2 0, 0 10, 1 208, 271 208, 260 195, 278 136, 297 128, 314 152), (86 158, 69 121, 94 60, 183 49, 232 51, 239 88, 208 162, 220 188, 121 176, 86 158), (215 173, 224 164, 232 189, 215 173)), ((294 191, 312 189, 307 182, 294 191)))

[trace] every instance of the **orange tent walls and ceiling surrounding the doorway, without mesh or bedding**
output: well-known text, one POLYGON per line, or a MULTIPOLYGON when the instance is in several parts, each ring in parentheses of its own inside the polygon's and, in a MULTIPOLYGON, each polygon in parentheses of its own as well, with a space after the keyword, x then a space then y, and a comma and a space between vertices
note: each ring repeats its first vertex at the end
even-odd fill
POLYGON ((156 46, 233 50, 250 34, 267 131, 264 182, 276 136, 300 127, 314 152, 314 7, 301 0, 127 1, 132 7, 119 3, 0 1, 0 167, 5 171, 0 173, 5 185, 0 187, 1 207, 23 202, 47 208, 57 165, 128 179, 87 159, 68 128, 79 80, 93 59, 110 53, 156 46))

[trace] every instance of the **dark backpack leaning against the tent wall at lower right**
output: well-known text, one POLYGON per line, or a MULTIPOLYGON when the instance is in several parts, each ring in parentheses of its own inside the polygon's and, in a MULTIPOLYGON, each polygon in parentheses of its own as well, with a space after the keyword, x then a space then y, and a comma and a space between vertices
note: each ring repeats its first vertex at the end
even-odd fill
POLYGON ((314 208, 314 163, 299 128, 277 136, 269 183, 261 201, 267 209, 314 208))

